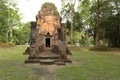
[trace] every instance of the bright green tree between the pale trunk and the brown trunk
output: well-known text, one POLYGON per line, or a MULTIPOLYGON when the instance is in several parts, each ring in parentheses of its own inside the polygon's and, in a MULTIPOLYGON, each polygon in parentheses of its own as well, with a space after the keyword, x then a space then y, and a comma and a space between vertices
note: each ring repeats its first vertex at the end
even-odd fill
POLYGON ((79 15, 81 16, 81 22, 82 22, 82 28, 81 28, 81 33, 82 33, 82 39, 81 42, 84 44, 89 43, 89 38, 91 38, 89 35, 89 31, 91 30, 90 28, 90 8, 91 8, 92 2, 90 0, 81 0, 79 1, 78 5, 78 12, 79 15))

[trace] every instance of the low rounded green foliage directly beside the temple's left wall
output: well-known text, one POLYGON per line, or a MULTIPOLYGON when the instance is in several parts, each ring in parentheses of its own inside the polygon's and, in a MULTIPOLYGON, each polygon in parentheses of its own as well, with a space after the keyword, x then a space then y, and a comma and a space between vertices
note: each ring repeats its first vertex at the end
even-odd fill
POLYGON ((23 23, 20 29, 13 30, 13 43, 26 44, 30 38, 30 23, 23 23))

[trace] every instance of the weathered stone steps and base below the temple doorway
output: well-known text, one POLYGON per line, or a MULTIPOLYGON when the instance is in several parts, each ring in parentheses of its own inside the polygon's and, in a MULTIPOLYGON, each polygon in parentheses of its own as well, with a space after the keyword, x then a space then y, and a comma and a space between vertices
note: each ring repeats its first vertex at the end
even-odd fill
POLYGON ((65 63, 71 63, 69 59, 60 59, 59 55, 52 53, 50 48, 46 48, 44 52, 36 55, 34 58, 29 57, 25 63, 40 63, 40 64, 57 64, 65 65, 65 63))

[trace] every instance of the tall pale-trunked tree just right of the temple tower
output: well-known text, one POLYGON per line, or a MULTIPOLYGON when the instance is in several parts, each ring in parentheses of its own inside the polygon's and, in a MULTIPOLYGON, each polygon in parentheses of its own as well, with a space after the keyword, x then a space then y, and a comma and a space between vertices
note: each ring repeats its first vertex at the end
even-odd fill
POLYGON ((79 31, 82 29, 82 19, 78 12, 74 11, 75 0, 73 2, 62 0, 61 15, 63 20, 66 20, 67 41, 70 44, 79 43, 79 31))

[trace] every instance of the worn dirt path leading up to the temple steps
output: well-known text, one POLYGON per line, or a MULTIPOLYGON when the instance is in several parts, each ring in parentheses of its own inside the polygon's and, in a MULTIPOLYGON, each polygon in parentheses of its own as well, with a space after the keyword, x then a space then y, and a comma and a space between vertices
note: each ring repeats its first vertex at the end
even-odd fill
POLYGON ((32 68, 33 75, 37 75, 39 77, 38 80, 57 80, 55 71, 58 68, 64 66, 58 65, 40 65, 40 64, 27 64, 30 68, 32 68))

